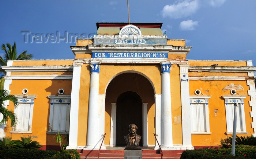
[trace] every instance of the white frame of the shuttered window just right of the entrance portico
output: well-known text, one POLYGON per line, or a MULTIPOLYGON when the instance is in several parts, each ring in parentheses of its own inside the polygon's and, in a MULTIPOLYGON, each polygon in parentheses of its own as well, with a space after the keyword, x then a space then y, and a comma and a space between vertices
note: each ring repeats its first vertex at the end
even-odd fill
MULTIPOLYGON (((191 117, 191 134, 192 135, 199 135, 199 134, 211 134, 210 132, 210 120, 209 120, 209 103, 208 100, 211 98, 211 96, 189 96, 190 100, 190 110, 192 109, 192 104, 203 104, 204 106, 204 125, 205 125, 205 131, 193 131, 193 121, 192 116, 193 114, 190 114, 191 117)), ((191 111, 190 111, 191 112, 191 111)), ((198 117, 197 117, 198 118, 198 117)))

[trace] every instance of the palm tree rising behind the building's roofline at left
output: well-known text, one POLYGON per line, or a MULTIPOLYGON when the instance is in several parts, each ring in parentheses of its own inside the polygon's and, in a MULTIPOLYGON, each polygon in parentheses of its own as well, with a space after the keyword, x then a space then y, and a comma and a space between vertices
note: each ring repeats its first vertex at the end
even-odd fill
MULTIPOLYGON (((31 59, 33 57, 32 54, 27 54, 27 50, 23 51, 18 55, 16 50, 16 43, 12 46, 10 43, 2 44, 1 50, 4 50, 4 57, 0 56, 0 65, 6 66, 8 60, 23 60, 23 59, 31 59), (6 48, 7 46, 7 48, 6 48)), ((3 70, 1 69, 3 72, 3 70)))

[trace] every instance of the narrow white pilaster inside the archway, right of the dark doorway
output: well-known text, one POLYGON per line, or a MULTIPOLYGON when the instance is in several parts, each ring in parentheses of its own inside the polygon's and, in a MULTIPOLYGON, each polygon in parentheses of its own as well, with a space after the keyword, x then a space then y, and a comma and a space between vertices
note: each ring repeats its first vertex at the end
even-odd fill
POLYGON ((143 146, 147 147, 148 146, 148 129, 147 129, 147 104, 148 103, 143 103, 142 107, 142 118, 143 118, 143 146))

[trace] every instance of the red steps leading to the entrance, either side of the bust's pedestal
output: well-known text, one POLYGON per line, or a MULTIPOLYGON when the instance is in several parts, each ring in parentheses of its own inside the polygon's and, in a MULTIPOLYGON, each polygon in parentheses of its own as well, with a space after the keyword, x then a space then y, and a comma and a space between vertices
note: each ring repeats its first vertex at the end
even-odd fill
MULTIPOLYGON (((143 150, 142 159, 179 159, 183 150, 163 151, 163 157, 159 150, 143 150)), ((98 150, 81 150, 81 159, 97 159, 98 150)), ((99 159, 124 159, 124 150, 101 150, 99 159)))

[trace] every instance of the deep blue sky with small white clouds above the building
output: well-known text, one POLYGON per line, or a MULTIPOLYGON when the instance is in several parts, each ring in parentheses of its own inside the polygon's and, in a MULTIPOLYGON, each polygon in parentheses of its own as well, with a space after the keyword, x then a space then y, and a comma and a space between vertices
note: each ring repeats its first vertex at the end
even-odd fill
MULTIPOLYGON (((97 22, 128 22, 126 0, 1 0, 0 44, 34 59, 73 59, 73 42, 25 42, 31 34, 93 34, 97 22), (23 34, 22 34, 23 33, 23 34), (26 33, 26 32, 25 32, 26 33)), ((169 39, 186 39, 187 59, 253 60, 256 0, 129 0, 130 21, 163 23, 169 39)), ((3 51, 0 51, 3 55, 3 51)))

